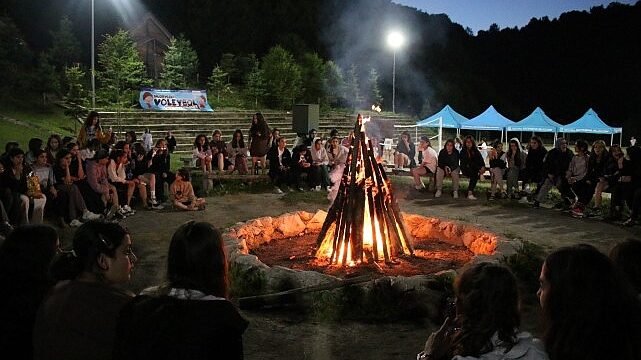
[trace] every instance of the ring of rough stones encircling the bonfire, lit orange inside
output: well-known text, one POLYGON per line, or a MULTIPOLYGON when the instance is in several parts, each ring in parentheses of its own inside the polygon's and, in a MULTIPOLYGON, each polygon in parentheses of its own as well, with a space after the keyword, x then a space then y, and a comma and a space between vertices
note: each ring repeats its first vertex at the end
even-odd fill
MULTIPOLYGON (((327 213, 318 210, 316 213, 297 211, 286 213, 278 217, 265 216, 232 226, 223 234, 225 250, 230 264, 237 266, 241 271, 260 271, 267 279, 266 293, 277 292, 283 280, 298 287, 310 287, 340 282, 341 279, 322 274, 316 271, 294 270, 282 266, 269 267, 260 259, 250 254, 262 244, 272 240, 291 238, 303 234, 318 234, 321 230, 327 213)), ((517 240, 507 240, 480 226, 459 223, 451 220, 425 217, 415 214, 403 213, 403 220, 407 231, 414 238, 440 239, 441 241, 464 245, 473 254, 471 263, 498 262, 503 257, 514 254, 521 243, 517 240)), ((431 275, 416 275, 411 277, 385 276, 370 282, 389 281, 402 290, 426 292, 428 283, 442 275, 455 276, 456 271, 451 269, 431 275), (446 274, 444 274, 446 273, 446 274)), ((434 295, 434 294, 432 294, 434 295)))

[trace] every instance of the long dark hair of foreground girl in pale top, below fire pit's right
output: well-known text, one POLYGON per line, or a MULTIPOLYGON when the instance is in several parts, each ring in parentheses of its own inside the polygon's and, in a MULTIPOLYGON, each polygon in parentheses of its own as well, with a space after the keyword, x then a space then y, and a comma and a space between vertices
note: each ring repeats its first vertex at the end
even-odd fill
POLYGON ((478 263, 456 280, 456 321, 453 355, 479 357, 493 348, 492 335, 508 348, 517 342, 521 323, 519 292, 510 270, 494 263, 478 263))

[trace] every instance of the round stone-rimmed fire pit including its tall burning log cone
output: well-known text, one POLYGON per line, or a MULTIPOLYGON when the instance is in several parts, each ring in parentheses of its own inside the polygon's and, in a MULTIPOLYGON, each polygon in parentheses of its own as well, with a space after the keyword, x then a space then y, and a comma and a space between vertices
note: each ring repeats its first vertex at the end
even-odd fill
POLYGON ((291 295, 293 290, 282 292, 283 283, 304 293, 355 281, 370 287, 385 282, 420 301, 440 303, 442 294, 435 295, 430 285, 435 277, 444 272, 451 277, 470 261, 497 261, 515 252, 513 244, 485 229, 401 213, 365 123, 359 115, 328 212, 262 217, 224 234, 232 265, 266 278, 264 292, 270 295, 262 295, 261 304, 264 297, 278 295, 271 293, 291 295))

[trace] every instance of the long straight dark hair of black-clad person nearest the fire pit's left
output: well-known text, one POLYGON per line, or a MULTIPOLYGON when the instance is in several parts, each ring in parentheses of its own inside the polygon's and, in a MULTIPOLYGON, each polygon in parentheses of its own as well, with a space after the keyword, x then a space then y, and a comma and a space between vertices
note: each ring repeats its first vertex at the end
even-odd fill
POLYGON ((206 222, 189 221, 171 238, 167 280, 173 288, 227 297, 227 260, 220 232, 206 222))

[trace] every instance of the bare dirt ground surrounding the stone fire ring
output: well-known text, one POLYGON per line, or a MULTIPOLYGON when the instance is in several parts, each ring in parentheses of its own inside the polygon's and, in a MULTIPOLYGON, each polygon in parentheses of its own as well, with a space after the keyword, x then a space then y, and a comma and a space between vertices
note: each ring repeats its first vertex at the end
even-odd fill
MULTIPOLYGON (((579 242, 607 251, 615 242, 641 233, 639 227, 622 228, 595 220, 577 220, 551 209, 533 210, 514 203, 489 204, 484 200, 454 200, 398 187, 401 210, 425 216, 478 224, 507 238, 522 238, 551 250, 579 242)), ((128 287, 133 291, 162 282, 171 234, 187 220, 209 221, 226 228, 260 216, 294 210, 326 210, 327 204, 281 201, 283 195, 235 194, 208 198, 201 212, 161 211, 139 214, 123 223, 130 229, 139 261, 128 287)), ((301 197, 305 199, 305 197, 301 197)), ((68 244, 68 236, 64 236, 68 244)), ((536 333, 537 309, 525 309, 523 328, 536 333)), ((435 328, 428 322, 371 324, 319 323, 287 311, 243 312, 250 321, 244 336, 246 359, 414 359, 435 328)))

